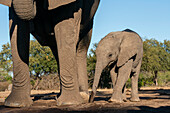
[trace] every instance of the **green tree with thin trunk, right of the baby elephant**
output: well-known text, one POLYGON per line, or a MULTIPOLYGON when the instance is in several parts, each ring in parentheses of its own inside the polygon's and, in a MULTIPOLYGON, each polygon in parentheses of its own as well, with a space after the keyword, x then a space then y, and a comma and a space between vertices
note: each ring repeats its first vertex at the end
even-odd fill
POLYGON ((157 77, 159 71, 167 71, 170 66, 169 41, 164 43, 155 39, 146 39, 143 42, 143 61, 141 70, 150 71, 154 75, 154 83, 158 85, 157 77))

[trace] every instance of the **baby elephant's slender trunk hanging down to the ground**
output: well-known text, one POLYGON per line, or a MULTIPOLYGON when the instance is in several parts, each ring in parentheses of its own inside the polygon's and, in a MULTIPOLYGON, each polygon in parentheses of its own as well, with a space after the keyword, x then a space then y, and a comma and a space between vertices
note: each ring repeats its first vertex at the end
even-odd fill
POLYGON ((92 93, 90 95, 89 102, 93 102, 93 100, 94 100, 102 70, 103 70, 102 63, 97 62, 96 63, 96 69, 95 69, 94 81, 93 81, 93 87, 92 87, 92 93))

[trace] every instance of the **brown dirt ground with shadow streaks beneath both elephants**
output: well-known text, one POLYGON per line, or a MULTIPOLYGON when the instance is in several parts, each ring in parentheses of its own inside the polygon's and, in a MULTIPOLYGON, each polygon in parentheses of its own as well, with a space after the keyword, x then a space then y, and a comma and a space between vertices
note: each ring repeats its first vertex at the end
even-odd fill
MULTIPOLYGON (((9 91, 0 92, 0 113, 170 113, 170 87, 147 87, 139 91, 140 102, 109 103, 111 89, 98 90, 94 103, 56 106, 58 91, 32 91, 34 104, 29 108, 9 108, 3 105, 9 91)), ((130 89, 127 89, 130 98, 130 89)))

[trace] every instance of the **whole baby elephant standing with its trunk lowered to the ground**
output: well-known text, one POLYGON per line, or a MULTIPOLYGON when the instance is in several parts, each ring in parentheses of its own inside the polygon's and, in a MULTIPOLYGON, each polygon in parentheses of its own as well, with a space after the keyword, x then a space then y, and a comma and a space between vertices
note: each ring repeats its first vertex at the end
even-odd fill
POLYGON ((104 37, 96 49, 96 69, 90 102, 93 101, 102 70, 108 66, 113 82, 113 94, 110 102, 126 100, 125 85, 132 79, 131 101, 139 101, 138 76, 143 56, 143 42, 140 36, 126 29, 111 32, 104 37))

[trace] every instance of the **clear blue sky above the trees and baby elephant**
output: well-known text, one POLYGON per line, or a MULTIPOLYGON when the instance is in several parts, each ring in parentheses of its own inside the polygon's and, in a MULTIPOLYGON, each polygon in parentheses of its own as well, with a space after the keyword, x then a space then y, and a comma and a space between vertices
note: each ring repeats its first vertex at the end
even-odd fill
MULTIPOLYGON (((0 5, 0 50, 9 42, 8 8, 0 5)), ((170 40, 170 0, 101 0, 94 19, 93 43, 126 28, 143 39, 170 40)))

